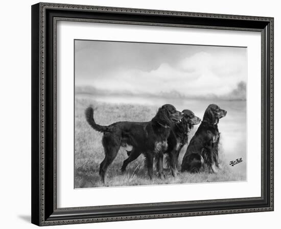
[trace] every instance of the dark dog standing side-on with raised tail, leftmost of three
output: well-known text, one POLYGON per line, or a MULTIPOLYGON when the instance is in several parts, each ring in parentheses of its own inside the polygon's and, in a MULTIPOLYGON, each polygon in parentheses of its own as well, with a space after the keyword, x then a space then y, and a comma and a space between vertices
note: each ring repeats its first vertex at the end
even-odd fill
POLYGON ((182 113, 174 106, 163 105, 149 122, 120 121, 103 126, 93 119, 91 107, 86 109, 85 115, 90 126, 103 133, 102 144, 105 158, 100 165, 102 182, 105 181, 108 166, 115 159, 120 147, 125 145, 131 145, 136 152, 145 155, 150 179, 153 176, 153 160, 156 157, 158 174, 161 178, 163 177, 163 152, 168 147, 167 139, 171 126, 175 122, 180 122, 182 118, 182 113))

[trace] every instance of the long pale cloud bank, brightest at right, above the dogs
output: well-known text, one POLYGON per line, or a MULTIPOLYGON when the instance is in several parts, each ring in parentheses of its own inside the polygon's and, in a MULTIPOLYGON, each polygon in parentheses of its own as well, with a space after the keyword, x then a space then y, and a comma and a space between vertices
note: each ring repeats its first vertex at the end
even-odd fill
POLYGON ((241 69, 239 61, 234 61, 236 58, 224 57, 226 60, 217 61, 221 58, 200 52, 174 66, 162 63, 150 71, 122 68, 91 78, 87 83, 96 88, 133 93, 177 91, 185 96, 225 95, 235 89, 238 82, 246 80, 246 70, 241 69), (232 64, 227 64, 229 62, 232 64))

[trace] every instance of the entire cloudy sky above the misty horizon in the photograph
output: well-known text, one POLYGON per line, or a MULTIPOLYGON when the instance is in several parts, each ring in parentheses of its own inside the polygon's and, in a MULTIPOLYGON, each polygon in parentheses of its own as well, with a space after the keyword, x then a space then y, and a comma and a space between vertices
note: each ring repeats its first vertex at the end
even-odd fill
POLYGON ((247 48, 75 41, 76 86, 133 94, 230 96, 244 90, 247 48))

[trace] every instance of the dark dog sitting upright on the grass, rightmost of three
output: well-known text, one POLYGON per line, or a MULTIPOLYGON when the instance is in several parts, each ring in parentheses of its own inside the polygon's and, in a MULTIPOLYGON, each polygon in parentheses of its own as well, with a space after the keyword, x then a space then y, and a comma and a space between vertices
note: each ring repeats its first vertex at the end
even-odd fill
POLYGON ((181 171, 200 172, 205 166, 217 172, 219 167, 219 119, 226 115, 226 111, 211 104, 207 107, 203 121, 190 141, 182 159, 181 171), (216 166, 216 167, 215 167, 216 166))

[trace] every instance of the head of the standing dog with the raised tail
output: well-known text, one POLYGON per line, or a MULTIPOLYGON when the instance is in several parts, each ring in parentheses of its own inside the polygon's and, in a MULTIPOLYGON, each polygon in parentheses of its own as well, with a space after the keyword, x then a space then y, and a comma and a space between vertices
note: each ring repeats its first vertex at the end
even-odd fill
POLYGON ((161 125, 172 126, 173 123, 181 121, 183 113, 177 111, 171 104, 165 104, 158 109, 156 116, 153 118, 161 125))

